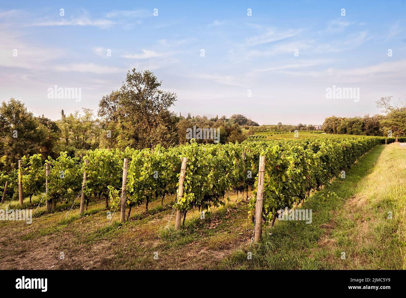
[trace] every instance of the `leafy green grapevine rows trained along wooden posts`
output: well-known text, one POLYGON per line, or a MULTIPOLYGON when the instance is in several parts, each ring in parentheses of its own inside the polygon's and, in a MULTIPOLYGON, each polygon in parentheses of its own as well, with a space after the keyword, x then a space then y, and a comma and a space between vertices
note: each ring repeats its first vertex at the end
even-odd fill
MULTIPOLYGON (((73 206, 80 197, 81 208, 86 200, 87 210, 90 199, 104 197, 106 208, 121 209, 122 214, 127 209, 128 219, 133 206, 144 204, 148 212, 150 202, 163 202, 166 195, 177 194, 182 158, 186 158, 183 193, 174 206, 183 217, 183 224, 189 210, 198 209, 203 214, 224 205, 229 192, 248 198, 249 189, 254 193, 249 201, 254 217, 259 159, 264 156, 262 219, 268 225, 274 221, 277 210, 297 206, 311 191, 330 183, 365 152, 383 142, 381 137, 349 136, 247 140, 225 145, 198 145, 192 140, 168 149, 157 146, 143 150, 93 150, 82 158, 61 152, 57 159, 44 162, 41 154, 36 154, 23 157, 20 170, 2 173, 0 188, 2 202, 17 199, 20 174, 22 193, 30 198, 41 195, 38 206, 46 205, 47 212, 59 203, 73 206), (125 183, 124 159, 128 160, 125 183)), ((121 220, 125 221, 123 215, 121 220)))

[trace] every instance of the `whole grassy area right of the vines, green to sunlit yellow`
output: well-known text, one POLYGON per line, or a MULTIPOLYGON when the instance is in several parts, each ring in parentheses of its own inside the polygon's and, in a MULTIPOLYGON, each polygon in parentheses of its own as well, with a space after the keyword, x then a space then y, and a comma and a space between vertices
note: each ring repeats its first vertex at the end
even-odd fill
POLYGON ((345 179, 305 202, 311 224, 276 221, 259 244, 236 251, 221 268, 405 269, 405 151, 398 144, 374 148, 345 179))

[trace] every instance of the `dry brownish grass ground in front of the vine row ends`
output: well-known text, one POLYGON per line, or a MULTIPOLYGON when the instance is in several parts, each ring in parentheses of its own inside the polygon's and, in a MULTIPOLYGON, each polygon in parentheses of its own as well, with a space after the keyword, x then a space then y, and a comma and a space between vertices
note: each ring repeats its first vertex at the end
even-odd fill
MULTIPOLYGON (((246 201, 215 208, 204 220, 197 210, 188 212, 184 229, 173 233, 173 200, 166 197, 164 206, 158 201, 150 203, 148 214, 145 206, 132 208, 132 216, 124 225, 119 222, 119 212, 108 225, 107 212, 113 210, 105 210, 102 201, 91 202, 84 217, 79 216, 77 206, 69 215, 67 209, 46 214, 45 207, 40 207, 37 214, 43 215, 35 215, 31 225, 0 222, 0 268, 214 268, 250 238, 252 224, 246 201), (170 228, 165 229, 170 218, 170 228), (158 259, 153 258, 155 252, 158 259)), ((236 195, 230 195, 230 202, 235 201, 236 195)), ((38 204, 39 199, 33 202, 38 204)), ((8 202, 0 208, 13 204, 8 202)))

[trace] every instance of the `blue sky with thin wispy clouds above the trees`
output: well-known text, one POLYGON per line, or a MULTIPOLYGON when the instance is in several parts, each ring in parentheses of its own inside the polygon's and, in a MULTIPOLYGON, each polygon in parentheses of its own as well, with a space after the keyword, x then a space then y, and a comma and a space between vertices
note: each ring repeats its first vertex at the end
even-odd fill
POLYGON ((177 94, 178 114, 322 124, 406 98, 405 66, 404 0, 0 3, 0 101, 52 120, 97 112, 136 68, 177 94), (49 98, 54 86, 80 101, 49 98), (354 94, 329 98, 333 86, 354 94))

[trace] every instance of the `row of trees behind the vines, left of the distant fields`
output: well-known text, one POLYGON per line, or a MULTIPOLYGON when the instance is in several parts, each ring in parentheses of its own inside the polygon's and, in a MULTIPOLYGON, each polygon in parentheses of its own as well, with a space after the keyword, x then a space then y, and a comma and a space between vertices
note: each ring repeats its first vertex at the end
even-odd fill
MULTIPOLYGON (((165 148, 185 144, 186 130, 193 126, 219 129, 220 143, 242 142, 246 135, 241 125, 258 126, 244 115, 230 118, 177 115, 171 111, 176 94, 160 89, 162 81, 150 71, 127 72, 120 89, 103 96, 97 116, 83 108, 59 120, 35 116, 24 103, 11 98, 0 105, 0 170, 14 169, 24 155, 41 154, 57 158, 60 152, 83 157, 87 150, 165 148)), ((212 139, 197 140, 212 143, 212 139)))

